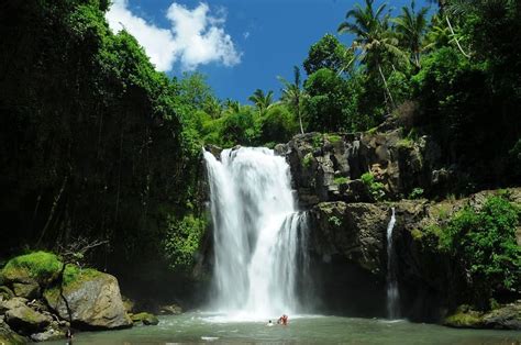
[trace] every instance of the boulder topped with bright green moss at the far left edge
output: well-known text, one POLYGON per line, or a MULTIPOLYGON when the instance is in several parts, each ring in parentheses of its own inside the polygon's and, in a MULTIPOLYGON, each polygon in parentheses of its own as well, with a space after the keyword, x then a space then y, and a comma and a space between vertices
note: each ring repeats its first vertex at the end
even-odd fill
POLYGON ((7 286, 36 282, 44 287, 58 278, 60 269, 62 261, 56 255, 34 252, 10 259, 0 276, 7 286))

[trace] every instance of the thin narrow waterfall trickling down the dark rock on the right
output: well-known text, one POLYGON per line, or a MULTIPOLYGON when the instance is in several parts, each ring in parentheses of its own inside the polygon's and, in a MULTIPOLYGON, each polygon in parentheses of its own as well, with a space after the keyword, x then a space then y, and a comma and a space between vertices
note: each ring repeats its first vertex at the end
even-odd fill
POLYGON ((400 316, 400 292, 396 279, 396 265, 392 248, 392 230, 395 227, 395 208, 387 225, 387 316, 391 320, 400 316))

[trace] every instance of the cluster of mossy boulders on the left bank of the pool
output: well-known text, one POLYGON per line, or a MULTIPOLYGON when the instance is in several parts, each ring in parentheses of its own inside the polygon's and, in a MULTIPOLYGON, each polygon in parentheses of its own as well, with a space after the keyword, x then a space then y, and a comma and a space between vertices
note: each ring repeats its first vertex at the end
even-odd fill
POLYGON ((133 313, 115 277, 34 252, 10 259, 0 271, 0 343, 63 340, 68 332, 156 325, 155 315, 133 313))

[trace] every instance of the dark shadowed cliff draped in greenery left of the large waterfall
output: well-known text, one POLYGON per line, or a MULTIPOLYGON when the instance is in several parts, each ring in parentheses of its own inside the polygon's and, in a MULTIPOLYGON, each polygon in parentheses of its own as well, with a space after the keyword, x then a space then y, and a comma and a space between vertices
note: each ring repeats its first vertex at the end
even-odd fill
POLYGON ((160 266, 158 208, 181 218, 198 198, 209 120, 192 114, 214 98, 200 75, 156 71, 134 37, 109 30, 101 2, 0 11, 0 204, 16 229, 0 233, 3 255, 81 234, 110 241, 109 269, 160 266))

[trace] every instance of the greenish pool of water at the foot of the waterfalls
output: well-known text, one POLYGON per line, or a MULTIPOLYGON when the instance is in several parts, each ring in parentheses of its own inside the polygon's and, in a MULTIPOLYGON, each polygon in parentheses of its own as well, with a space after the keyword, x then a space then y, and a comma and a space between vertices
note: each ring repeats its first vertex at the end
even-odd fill
POLYGON ((402 320, 289 315, 287 326, 271 327, 266 326, 267 320, 236 322, 199 312, 159 320, 157 326, 79 333, 74 344, 521 344, 520 332, 455 330, 402 320))

